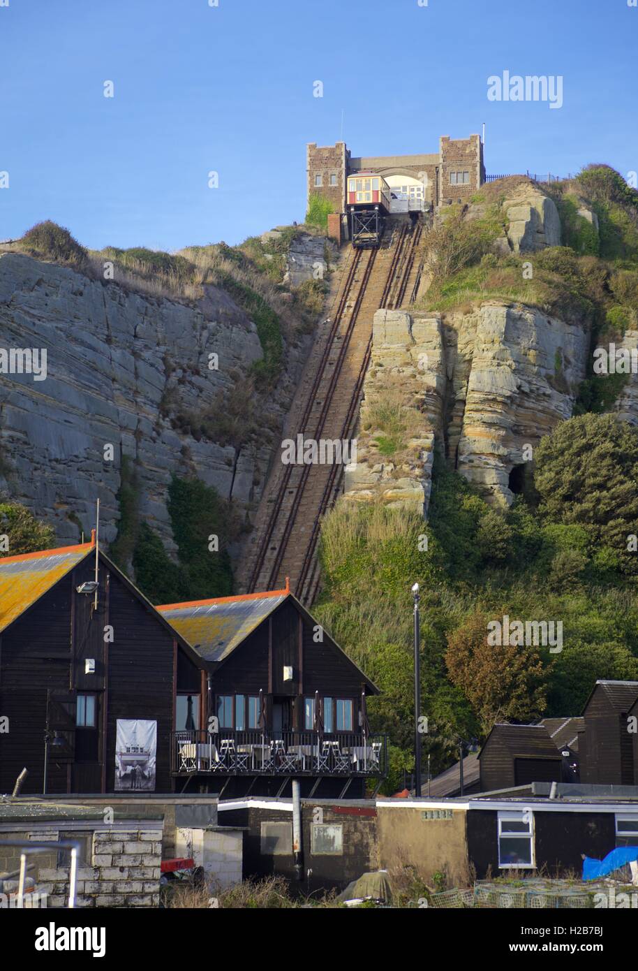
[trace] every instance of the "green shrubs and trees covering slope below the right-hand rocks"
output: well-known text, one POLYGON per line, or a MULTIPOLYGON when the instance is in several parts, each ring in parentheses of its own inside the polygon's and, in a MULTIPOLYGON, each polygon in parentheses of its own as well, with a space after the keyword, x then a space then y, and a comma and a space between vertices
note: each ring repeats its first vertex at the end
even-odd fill
POLYGON ((383 694, 391 776, 412 759, 412 602, 421 585, 424 751, 431 770, 494 718, 577 715, 596 678, 638 679, 638 431, 608 415, 570 419, 535 450, 533 484, 509 510, 434 462, 430 519, 337 503, 324 520, 316 613, 383 694), (629 547, 631 549, 631 547, 629 547), (486 649, 488 619, 561 620, 551 645, 486 649))

